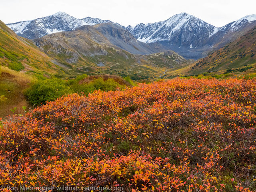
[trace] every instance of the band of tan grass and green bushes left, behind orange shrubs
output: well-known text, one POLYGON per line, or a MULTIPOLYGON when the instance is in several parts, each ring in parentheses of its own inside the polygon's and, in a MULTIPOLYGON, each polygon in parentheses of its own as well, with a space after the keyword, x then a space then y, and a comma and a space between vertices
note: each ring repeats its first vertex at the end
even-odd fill
POLYGON ((108 74, 84 74, 75 79, 59 79, 30 75, 0 66, 0 117, 13 113, 24 114, 24 107, 29 110, 70 93, 88 95, 94 90, 110 91, 133 85, 134 82, 128 76, 121 78, 108 74))

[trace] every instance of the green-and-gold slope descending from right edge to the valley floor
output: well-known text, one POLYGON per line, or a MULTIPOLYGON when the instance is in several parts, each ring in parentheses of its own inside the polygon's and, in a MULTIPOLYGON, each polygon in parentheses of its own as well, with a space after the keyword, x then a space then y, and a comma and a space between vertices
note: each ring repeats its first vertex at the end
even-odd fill
MULTIPOLYGON (((191 76, 197 74, 213 74, 240 76, 256 73, 256 27, 245 35, 227 44, 223 48, 184 66, 177 66, 165 74, 168 78, 175 76, 191 76)), ((226 76, 226 75, 225 75, 226 76)))

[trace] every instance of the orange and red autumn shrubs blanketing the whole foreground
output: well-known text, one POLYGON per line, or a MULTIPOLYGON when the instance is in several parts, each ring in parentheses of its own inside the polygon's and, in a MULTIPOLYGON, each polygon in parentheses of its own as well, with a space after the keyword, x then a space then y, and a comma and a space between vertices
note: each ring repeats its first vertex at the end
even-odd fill
POLYGON ((250 192, 255 176, 255 79, 71 94, 9 118, 0 133, 0 186, 250 192))

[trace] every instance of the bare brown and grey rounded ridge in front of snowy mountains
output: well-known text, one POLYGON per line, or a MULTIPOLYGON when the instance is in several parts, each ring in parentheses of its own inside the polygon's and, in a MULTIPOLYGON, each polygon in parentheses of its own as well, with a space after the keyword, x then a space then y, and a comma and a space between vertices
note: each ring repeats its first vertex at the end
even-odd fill
POLYGON ((152 49, 156 51, 158 48, 154 44, 137 41, 115 24, 86 25, 70 32, 46 35, 34 42, 50 57, 69 66, 70 70, 76 69, 77 73, 113 73, 148 78, 161 76, 167 69, 188 62, 172 51, 135 54, 153 53, 152 49))

